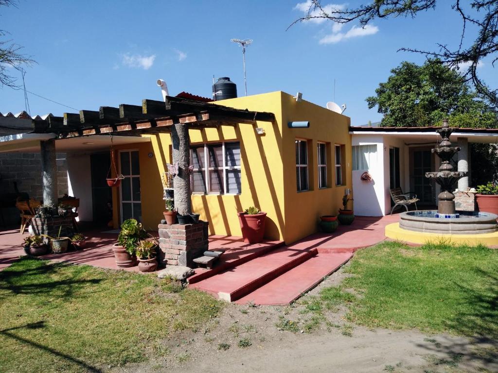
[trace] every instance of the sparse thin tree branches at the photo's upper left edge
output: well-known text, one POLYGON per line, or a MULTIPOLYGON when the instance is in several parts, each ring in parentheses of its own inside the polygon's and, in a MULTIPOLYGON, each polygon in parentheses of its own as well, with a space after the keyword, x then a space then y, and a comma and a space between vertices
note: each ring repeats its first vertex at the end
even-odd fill
MULTIPOLYGON (((15 0, 0 0, 0 6, 15 6, 15 0)), ((0 38, 8 34, 7 31, 0 29, 0 38)), ((22 72, 22 65, 30 65, 34 61, 19 53, 22 49, 20 45, 12 43, 11 40, 0 39, 0 87, 7 86, 17 88, 15 78, 10 75, 9 68, 14 68, 22 72)))

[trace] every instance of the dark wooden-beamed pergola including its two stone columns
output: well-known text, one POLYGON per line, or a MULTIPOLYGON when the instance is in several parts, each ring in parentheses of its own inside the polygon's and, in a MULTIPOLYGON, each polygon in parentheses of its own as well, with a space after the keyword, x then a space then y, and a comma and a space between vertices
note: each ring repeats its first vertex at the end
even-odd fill
MULTIPOLYGON (((0 117, 0 124, 2 119, 13 118, 0 117)), ((144 99, 141 106, 121 104, 119 107, 101 106, 98 111, 64 113, 62 117, 48 115, 43 119, 36 116, 32 118, 31 133, 55 134, 53 139, 40 141, 43 201, 46 205, 57 204, 55 141, 102 134, 139 136, 171 133, 173 163, 178 164, 179 170, 173 179, 175 208, 180 214, 191 213, 190 180, 185 172, 190 165, 188 130, 236 126, 238 123, 254 124, 256 121, 274 123, 275 115, 171 96, 166 96, 164 101, 144 99)))

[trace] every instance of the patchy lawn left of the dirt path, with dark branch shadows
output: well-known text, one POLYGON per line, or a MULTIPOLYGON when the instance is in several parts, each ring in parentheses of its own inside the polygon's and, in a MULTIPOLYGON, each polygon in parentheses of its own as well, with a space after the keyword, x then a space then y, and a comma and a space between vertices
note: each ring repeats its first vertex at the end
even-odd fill
POLYGON ((222 303, 154 275, 23 258, 0 272, 0 372, 87 372, 166 354, 222 303))

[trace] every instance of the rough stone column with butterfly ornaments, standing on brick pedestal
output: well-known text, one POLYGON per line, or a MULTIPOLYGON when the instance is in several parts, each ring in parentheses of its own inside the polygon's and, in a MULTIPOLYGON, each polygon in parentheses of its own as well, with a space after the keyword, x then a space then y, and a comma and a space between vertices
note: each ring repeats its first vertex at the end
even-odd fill
POLYGON ((173 124, 171 142, 173 143, 173 164, 178 162, 178 175, 173 179, 175 208, 180 215, 188 215, 192 213, 192 203, 190 176, 186 173, 190 166, 190 137, 186 124, 173 124))

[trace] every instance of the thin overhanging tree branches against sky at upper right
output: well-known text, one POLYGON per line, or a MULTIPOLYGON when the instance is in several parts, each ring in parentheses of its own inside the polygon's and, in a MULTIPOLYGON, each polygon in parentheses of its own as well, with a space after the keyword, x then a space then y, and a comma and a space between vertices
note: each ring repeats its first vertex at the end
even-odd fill
MULTIPOLYGON (((492 64, 498 61, 498 1, 497 0, 370 0, 358 7, 323 6, 322 0, 310 0, 308 14, 294 21, 325 18, 337 23, 358 21, 366 26, 374 19, 389 17, 415 17, 418 13, 434 9, 436 3, 451 6, 462 19, 462 32, 458 36, 458 47, 449 49, 449 41, 437 43, 438 51, 422 51, 415 48, 401 48, 401 51, 422 53, 439 58, 440 63, 450 67, 467 66, 465 78, 472 82, 476 91, 498 107, 498 89, 490 89, 478 74, 481 60, 491 57, 492 64), (469 32, 477 31, 472 40, 466 38, 469 32), (468 42, 468 40, 470 42, 468 42)), ((289 26, 290 27, 290 26, 289 26)))

